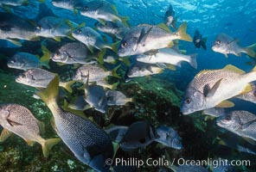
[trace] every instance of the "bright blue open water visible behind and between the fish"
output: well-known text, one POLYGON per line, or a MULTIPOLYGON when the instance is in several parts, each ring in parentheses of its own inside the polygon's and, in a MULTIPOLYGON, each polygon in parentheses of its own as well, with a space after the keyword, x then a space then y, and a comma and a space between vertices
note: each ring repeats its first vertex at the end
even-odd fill
MULTIPOLYGON (((195 29, 202 37, 208 37, 207 50, 195 48, 192 42, 180 41, 180 49, 187 50, 187 54, 198 53, 198 67, 195 70, 189 64, 182 63, 177 71, 164 71, 155 77, 163 78, 170 83, 176 83, 176 88, 185 91, 189 82, 196 73, 206 69, 221 69, 227 64, 233 64, 244 71, 251 71, 255 59, 249 58, 245 53, 241 57, 232 54, 228 58, 218 52, 213 52, 211 46, 217 34, 225 33, 238 40, 240 46, 250 46, 256 43, 256 1, 255 0, 111 0, 118 9, 118 14, 130 16, 131 26, 138 24, 158 24, 163 22, 163 15, 172 4, 178 17, 177 26, 182 22, 188 23, 187 33, 193 38, 195 29)), ((54 7, 46 0, 48 8, 54 15, 66 18, 76 23, 86 22, 87 27, 94 28, 95 20, 82 15, 74 15, 73 11, 54 7)), ((38 15, 39 3, 29 0, 29 6, 12 8, 14 14, 33 21, 38 15)), ((4 10, 0 8, 0 11, 4 10)), ((6 47, 16 47, 6 40, 0 40, 0 53, 6 47)), ((6 49, 4 49, 6 51, 6 49)), ((1 80, 1 79, 0 79, 1 80)), ((256 105, 246 101, 234 101, 234 109, 248 110, 256 114, 256 105)), ((1 165, 1 164, 0 164, 1 165)))

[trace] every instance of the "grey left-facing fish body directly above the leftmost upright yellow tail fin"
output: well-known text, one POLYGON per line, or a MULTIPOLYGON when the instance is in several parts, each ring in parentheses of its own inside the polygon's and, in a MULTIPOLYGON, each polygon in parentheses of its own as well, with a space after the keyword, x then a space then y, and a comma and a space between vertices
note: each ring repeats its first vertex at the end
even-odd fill
POLYGON ((95 56, 84 44, 72 42, 61 46, 51 59, 63 64, 91 64, 95 63, 93 58, 95 56))

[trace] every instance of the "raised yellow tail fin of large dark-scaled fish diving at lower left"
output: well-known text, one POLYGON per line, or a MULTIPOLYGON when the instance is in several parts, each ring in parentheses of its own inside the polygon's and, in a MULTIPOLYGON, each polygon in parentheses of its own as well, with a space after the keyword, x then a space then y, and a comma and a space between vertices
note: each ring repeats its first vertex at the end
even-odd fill
POLYGON ((54 79, 48 83, 47 88, 37 92, 37 95, 41 97, 42 101, 47 104, 52 112, 55 111, 57 97, 59 95, 59 77, 56 75, 54 79))

